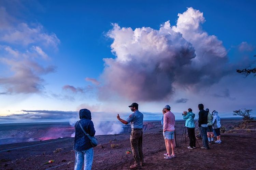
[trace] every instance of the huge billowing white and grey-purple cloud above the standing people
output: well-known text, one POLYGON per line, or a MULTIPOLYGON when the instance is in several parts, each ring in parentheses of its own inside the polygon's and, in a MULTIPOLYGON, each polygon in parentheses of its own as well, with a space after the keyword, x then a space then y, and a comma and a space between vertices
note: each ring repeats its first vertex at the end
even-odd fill
POLYGON ((159 101, 174 89, 196 90, 228 74, 227 51, 222 41, 202 30, 203 13, 190 7, 178 16, 176 26, 167 21, 159 30, 113 24, 108 36, 116 58, 104 58, 100 99, 117 95, 159 101))

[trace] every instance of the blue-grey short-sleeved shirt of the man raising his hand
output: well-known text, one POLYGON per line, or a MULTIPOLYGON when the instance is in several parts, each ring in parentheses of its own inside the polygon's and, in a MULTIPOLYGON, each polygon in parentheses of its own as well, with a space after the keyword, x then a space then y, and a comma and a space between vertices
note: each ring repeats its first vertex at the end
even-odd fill
POLYGON ((143 128, 143 114, 140 111, 135 111, 132 113, 126 121, 131 123, 131 129, 141 129, 143 128))

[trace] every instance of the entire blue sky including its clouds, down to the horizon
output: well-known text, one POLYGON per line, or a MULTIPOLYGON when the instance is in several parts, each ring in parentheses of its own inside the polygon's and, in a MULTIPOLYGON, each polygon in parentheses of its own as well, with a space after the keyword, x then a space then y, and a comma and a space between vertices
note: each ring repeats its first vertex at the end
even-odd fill
POLYGON ((85 107, 114 119, 134 101, 151 113, 148 119, 158 119, 152 113, 166 104, 176 114, 189 107, 197 113, 199 103, 223 117, 255 111, 256 79, 236 73, 255 66, 255 7, 254 1, 1 1, 0 115, 48 121, 38 114, 85 107))

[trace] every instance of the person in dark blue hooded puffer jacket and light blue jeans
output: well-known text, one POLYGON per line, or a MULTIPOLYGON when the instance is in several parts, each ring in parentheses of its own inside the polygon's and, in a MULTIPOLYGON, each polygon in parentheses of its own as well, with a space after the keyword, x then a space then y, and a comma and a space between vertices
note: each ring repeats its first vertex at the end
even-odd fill
POLYGON ((84 170, 90 170, 93 165, 93 146, 90 139, 85 135, 81 129, 79 122, 83 129, 90 136, 95 135, 93 121, 91 121, 91 112, 84 108, 79 111, 80 120, 75 123, 75 170, 81 170, 84 163, 84 170))

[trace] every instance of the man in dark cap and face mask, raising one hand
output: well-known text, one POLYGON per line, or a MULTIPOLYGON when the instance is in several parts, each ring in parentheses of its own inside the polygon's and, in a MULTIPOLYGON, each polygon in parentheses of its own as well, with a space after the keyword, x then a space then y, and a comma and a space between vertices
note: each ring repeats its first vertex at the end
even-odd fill
POLYGON ((132 103, 130 106, 133 112, 126 120, 120 118, 117 114, 117 119, 124 123, 131 123, 131 150, 134 159, 134 165, 130 166, 130 169, 139 169, 144 166, 144 155, 142 152, 142 135, 143 135, 143 114, 139 112, 139 105, 137 103, 132 103))

